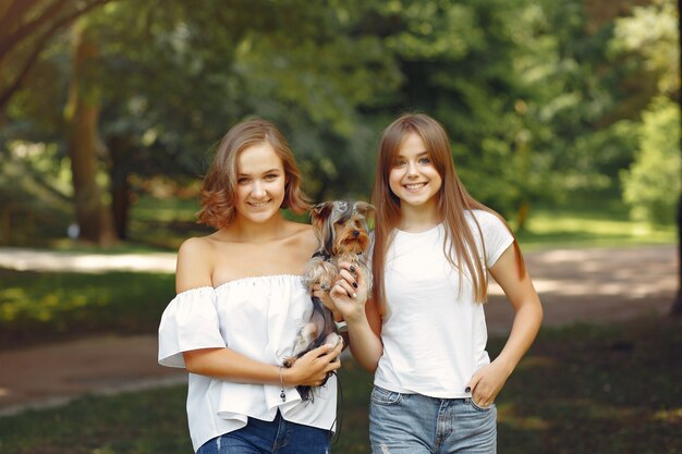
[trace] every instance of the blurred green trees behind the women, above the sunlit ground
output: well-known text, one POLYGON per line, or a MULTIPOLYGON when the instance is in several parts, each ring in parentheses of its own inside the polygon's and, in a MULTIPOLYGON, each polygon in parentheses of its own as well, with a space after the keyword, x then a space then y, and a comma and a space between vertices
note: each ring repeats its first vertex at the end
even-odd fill
POLYGON ((0 242, 54 246, 75 223, 176 247, 212 147, 252 115, 284 131, 314 200, 366 199, 405 111, 443 123, 517 232, 575 198, 670 225, 678 17, 673 0, 4 0, 0 242))

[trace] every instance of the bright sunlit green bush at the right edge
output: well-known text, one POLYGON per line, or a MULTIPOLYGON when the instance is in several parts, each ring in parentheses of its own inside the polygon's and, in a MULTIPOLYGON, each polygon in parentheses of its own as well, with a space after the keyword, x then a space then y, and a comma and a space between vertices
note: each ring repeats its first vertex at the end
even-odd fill
POLYGON ((622 172, 623 198, 634 219, 672 222, 682 189, 680 108, 660 97, 642 116, 637 156, 630 170, 622 172))

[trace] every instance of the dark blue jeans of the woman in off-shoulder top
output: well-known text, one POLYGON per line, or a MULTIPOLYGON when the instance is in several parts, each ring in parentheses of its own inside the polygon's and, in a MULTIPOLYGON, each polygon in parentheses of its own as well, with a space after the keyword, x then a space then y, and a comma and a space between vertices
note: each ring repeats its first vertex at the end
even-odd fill
POLYGON ((248 418, 245 427, 207 441, 197 454, 328 454, 331 432, 282 419, 248 418))

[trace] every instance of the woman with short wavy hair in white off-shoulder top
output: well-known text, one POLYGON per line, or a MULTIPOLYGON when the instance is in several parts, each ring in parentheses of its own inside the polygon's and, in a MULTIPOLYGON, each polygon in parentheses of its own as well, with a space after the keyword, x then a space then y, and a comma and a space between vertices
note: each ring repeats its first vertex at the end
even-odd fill
MULTIPOLYGON (((180 247, 178 295, 159 327, 159 363, 190 372, 187 420, 199 454, 329 451, 336 377, 315 389, 314 402, 302 402, 295 386, 322 383, 340 367, 342 345, 280 367, 310 316, 302 274, 318 248, 312 226, 285 220, 280 208, 307 208, 287 142, 263 120, 235 125, 202 188, 199 221, 216 232, 180 247)), ((346 275, 340 300, 355 294, 346 275)))

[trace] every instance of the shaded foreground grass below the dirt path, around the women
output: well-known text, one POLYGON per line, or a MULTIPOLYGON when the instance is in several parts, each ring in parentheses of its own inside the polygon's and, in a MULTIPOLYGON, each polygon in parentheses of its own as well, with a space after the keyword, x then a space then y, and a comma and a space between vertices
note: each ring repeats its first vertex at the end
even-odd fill
MULTIPOLYGON (((491 340, 495 356, 502 340, 491 340)), ((682 319, 544 330, 498 396, 503 454, 681 453, 682 319)), ((368 453, 370 375, 341 371, 343 422, 334 453, 368 453)), ((184 386, 0 418, 14 454, 191 453, 184 386)))

